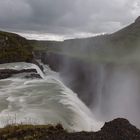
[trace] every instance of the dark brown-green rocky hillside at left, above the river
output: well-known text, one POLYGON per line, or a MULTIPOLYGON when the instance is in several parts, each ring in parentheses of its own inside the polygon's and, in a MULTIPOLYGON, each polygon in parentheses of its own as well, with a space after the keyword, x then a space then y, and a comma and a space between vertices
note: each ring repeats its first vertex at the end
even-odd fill
POLYGON ((32 60, 32 47, 16 34, 0 31, 0 63, 32 60))

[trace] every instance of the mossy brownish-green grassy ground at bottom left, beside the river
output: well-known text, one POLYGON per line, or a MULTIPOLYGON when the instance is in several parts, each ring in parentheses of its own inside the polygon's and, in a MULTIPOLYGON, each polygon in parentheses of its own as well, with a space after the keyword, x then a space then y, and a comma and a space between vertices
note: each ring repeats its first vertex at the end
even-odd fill
POLYGON ((49 135, 67 133, 62 125, 10 125, 0 129, 1 140, 40 140, 49 135))

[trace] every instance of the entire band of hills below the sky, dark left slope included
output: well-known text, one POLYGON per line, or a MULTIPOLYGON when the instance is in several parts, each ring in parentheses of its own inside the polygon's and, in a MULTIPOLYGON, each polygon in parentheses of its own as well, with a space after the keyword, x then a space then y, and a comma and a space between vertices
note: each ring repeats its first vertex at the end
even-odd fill
POLYGON ((137 61, 140 59, 140 17, 113 34, 63 42, 27 40, 17 34, 0 32, 0 63, 27 61, 32 59, 32 51, 39 55, 37 58, 44 52, 53 52, 84 61, 137 61))

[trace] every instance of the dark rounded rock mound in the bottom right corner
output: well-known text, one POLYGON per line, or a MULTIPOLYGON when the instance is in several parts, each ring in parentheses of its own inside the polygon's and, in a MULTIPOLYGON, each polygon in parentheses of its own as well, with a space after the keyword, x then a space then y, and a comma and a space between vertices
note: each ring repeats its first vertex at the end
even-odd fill
POLYGON ((105 123, 101 131, 95 135, 95 140, 140 140, 140 130, 131 125, 128 120, 118 118, 105 123))

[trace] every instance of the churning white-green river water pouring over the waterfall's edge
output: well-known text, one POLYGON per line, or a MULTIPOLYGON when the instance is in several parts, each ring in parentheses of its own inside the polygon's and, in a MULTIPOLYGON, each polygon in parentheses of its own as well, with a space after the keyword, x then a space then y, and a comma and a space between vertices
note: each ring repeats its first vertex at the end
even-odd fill
POLYGON ((47 66, 45 74, 29 63, 0 65, 0 69, 35 68, 43 79, 24 74, 0 80, 0 127, 11 123, 57 124, 72 131, 97 131, 103 123, 94 119, 85 104, 47 66))

